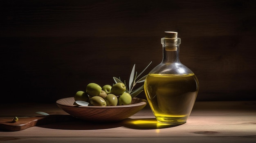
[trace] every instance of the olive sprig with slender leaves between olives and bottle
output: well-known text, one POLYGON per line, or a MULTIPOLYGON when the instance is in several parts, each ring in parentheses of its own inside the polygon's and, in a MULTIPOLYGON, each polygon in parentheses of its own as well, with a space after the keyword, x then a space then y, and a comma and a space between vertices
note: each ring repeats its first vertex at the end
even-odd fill
MULTIPOLYGON (((148 64, 148 66, 152 63, 152 61, 148 64)), ((141 93, 144 90, 144 84, 142 86, 140 86, 139 88, 133 90, 134 86, 137 83, 142 83, 145 81, 147 75, 144 75, 144 77, 141 77, 139 80, 138 77, 148 68, 148 66, 146 66, 146 68, 144 68, 144 70, 141 71, 141 73, 139 73, 139 75, 137 76, 137 72, 135 72, 135 64, 132 67, 132 72, 130 74, 130 78, 129 78, 129 86, 126 85, 126 81, 124 80, 121 81, 121 78, 117 78, 117 77, 113 77, 115 83, 121 82, 126 86, 126 92, 129 93, 132 98, 136 97, 137 95, 139 95, 139 93, 141 93), (137 81, 136 81, 137 80, 137 81)))

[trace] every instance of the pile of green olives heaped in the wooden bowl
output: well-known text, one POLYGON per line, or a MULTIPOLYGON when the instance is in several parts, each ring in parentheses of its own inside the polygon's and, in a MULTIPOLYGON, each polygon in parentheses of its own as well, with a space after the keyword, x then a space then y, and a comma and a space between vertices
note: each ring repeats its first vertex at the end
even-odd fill
POLYGON ((126 86, 121 82, 113 86, 107 84, 102 88, 98 84, 90 83, 86 86, 85 92, 76 92, 74 100, 88 102, 89 106, 128 105, 132 102, 132 97, 125 91, 126 86))

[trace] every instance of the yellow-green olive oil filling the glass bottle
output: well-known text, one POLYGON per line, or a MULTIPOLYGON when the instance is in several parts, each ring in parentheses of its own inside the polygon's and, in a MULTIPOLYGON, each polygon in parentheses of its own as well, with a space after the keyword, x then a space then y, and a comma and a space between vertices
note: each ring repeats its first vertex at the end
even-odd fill
POLYGON ((149 74, 144 82, 146 98, 160 123, 185 123, 194 106, 198 88, 194 74, 149 74))

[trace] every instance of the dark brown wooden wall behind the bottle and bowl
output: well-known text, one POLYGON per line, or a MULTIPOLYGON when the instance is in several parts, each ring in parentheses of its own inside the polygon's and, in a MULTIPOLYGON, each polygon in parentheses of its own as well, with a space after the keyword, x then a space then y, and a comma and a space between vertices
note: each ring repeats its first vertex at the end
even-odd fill
POLYGON ((255 0, 0 0, 0 102, 54 103, 153 61, 147 74, 162 61, 164 31, 182 39, 197 101, 255 100, 255 9, 255 0))

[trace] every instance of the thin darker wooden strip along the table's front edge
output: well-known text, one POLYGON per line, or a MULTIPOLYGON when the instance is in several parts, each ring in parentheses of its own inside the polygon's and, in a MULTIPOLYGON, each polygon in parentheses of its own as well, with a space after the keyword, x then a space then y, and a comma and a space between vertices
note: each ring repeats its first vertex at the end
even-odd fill
POLYGON ((213 136, 213 137, 204 137, 204 136, 182 136, 182 137, 20 137, 20 138, 13 138, 13 137, 0 137, 2 141, 11 143, 16 141, 18 143, 28 143, 34 142, 35 140, 40 140, 41 143, 63 143, 63 142, 73 142, 76 143, 84 143, 85 141, 90 141, 90 143, 99 143, 99 142, 122 142, 122 143, 141 143, 147 141, 147 143, 170 143, 173 141, 175 143, 198 143, 201 141, 205 141, 207 143, 255 143, 255 136, 213 136))

